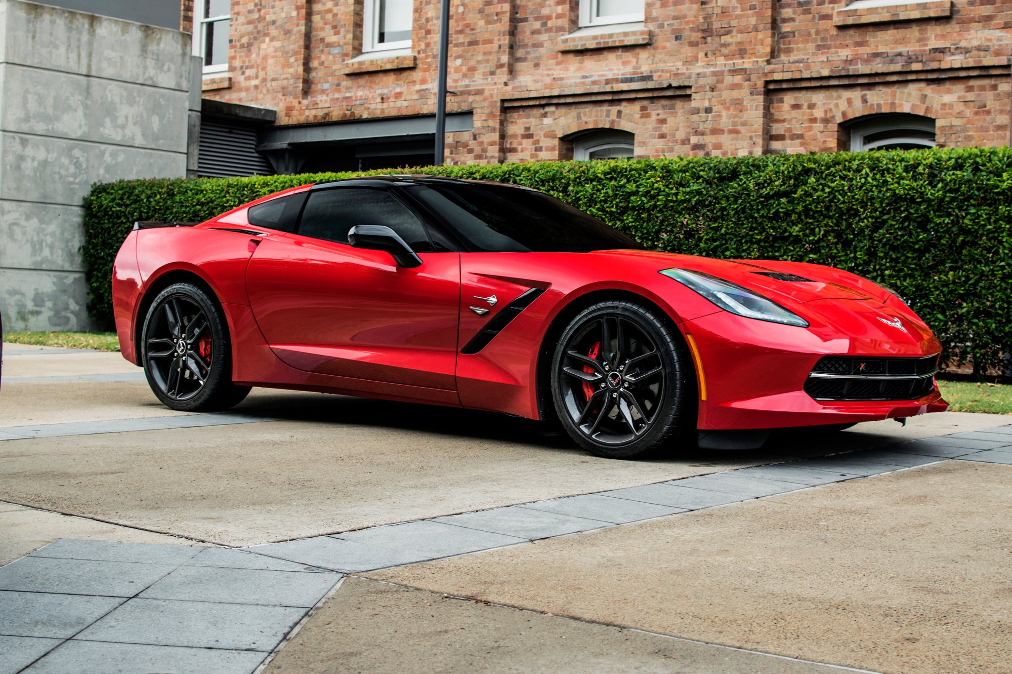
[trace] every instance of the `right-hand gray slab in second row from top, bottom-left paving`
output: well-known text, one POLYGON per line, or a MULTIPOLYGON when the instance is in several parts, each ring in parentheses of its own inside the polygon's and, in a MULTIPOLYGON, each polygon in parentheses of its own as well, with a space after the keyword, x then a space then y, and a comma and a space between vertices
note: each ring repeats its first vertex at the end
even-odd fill
POLYGON ((340 578, 339 573, 184 566, 138 596, 312 608, 340 578))

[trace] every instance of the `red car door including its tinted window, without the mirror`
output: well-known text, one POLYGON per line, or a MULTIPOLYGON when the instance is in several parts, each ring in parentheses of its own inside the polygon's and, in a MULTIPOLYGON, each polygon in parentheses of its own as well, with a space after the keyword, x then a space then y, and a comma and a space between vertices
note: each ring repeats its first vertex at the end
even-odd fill
POLYGON ((267 237, 250 260, 257 324, 300 370, 455 390, 459 255, 431 249, 422 218, 392 190, 315 189, 297 233, 267 237), (352 248, 356 224, 392 227, 422 265, 352 248))

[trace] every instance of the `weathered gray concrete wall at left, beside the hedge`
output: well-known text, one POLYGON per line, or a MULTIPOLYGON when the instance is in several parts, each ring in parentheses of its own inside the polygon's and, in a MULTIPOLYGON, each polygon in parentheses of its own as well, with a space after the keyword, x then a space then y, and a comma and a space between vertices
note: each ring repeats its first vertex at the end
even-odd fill
POLYGON ((190 35, 0 0, 0 312, 84 329, 83 200, 186 174, 190 35))

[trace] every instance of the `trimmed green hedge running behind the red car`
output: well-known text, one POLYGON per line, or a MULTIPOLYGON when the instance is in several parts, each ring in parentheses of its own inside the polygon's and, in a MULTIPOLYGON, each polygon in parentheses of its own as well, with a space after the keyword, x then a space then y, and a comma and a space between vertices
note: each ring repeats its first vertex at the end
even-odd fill
MULTIPOLYGON (((900 291, 948 357, 997 366, 1012 345, 1012 152, 1001 149, 428 167, 528 185, 650 248, 840 267, 900 291)), ((378 172, 375 172, 378 173, 378 172)), ((135 220, 203 220, 351 174, 95 185, 85 200, 91 315, 135 220)))

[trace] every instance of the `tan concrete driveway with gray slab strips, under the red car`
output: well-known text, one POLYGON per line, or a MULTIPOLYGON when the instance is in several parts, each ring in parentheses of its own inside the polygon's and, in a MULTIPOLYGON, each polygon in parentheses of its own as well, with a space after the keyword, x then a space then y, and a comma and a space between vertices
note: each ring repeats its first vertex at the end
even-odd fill
POLYGON ((0 672, 1009 671, 1009 417, 619 462, 341 396, 174 412, 116 354, 3 372, 0 672))

